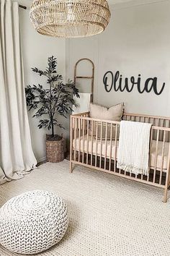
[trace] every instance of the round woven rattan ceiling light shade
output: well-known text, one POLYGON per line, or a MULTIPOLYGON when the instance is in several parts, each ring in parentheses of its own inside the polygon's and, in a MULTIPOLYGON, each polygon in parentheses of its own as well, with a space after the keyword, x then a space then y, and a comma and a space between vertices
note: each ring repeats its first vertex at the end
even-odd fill
POLYGON ((30 9, 38 33, 62 38, 102 33, 109 18, 106 0, 34 0, 30 9))

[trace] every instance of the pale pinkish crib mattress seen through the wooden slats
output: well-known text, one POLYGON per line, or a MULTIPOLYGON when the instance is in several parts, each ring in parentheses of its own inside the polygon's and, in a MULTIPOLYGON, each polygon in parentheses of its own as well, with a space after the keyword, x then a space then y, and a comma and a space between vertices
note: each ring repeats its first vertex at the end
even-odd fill
MULTIPOLYGON (((117 141, 117 148, 119 147, 119 141, 117 141)), ((89 136, 89 140, 87 140, 87 136, 76 138, 76 140, 73 140, 73 149, 80 150, 81 152, 84 151, 84 153, 91 153, 93 155, 102 155, 102 157, 115 159, 115 140, 112 140, 112 143, 110 143, 109 140, 107 140, 107 143, 105 140, 91 140, 91 136, 89 136)), ((151 159, 150 159, 150 166, 151 168, 154 168, 155 161, 156 161, 156 168, 164 170, 167 169, 167 161, 168 161, 168 155, 169 155, 169 142, 165 142, 164 145, 164 155, 162 157, 162 148, 163 148, 163 142, 158 142, 158 152, 156 157, 156 140, 153 140, 152 147, 151 147, 151 159), (162 162, 163 158, 163 162, 162 162)))

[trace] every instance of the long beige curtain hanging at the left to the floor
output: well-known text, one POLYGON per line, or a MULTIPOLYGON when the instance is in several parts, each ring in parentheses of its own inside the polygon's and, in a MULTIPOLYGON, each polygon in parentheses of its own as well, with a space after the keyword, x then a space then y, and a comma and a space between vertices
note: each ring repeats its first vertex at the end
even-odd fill
POLYGON ((19 7, 0 0, 0 184, 37 163, 32 152, 19 40, 19 7))

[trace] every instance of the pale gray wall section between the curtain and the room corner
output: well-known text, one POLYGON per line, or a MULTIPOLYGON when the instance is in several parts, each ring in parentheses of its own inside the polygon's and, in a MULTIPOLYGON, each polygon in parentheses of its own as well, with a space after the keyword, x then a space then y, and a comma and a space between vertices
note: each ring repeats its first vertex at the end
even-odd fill
MULTIPOLYGON (((46 80, 32 72, 31 68, 45 69, 47 59, 52 55, 58 59, 58 73, 66 77, 66 40, 38 34, 30 22, 28 9, 19 9, 19 14, 25 85, 37 85, 38 83, 46 85, 46 80)), ((32 115, 33 112, 29 112, 32 148, 37 161, 40 162, 45 160, 45 134, 49 132, 45 129, 38 129, 38 119, 32 119, 32 115)), ((68 127, 68 121, 63 120, 63 123, 68 127)), ((61 129, 58 129, 58 133, 61 133, 61 129)))

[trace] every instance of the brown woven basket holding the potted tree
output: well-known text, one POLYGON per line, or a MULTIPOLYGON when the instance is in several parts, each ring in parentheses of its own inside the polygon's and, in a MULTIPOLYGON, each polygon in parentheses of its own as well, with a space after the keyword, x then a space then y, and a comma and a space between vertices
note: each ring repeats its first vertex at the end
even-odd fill
POLYGON ((47 161, 51 163, 59 163, 64 160, 64 139, 48 140, 46 136, 46 156, 47 161))

